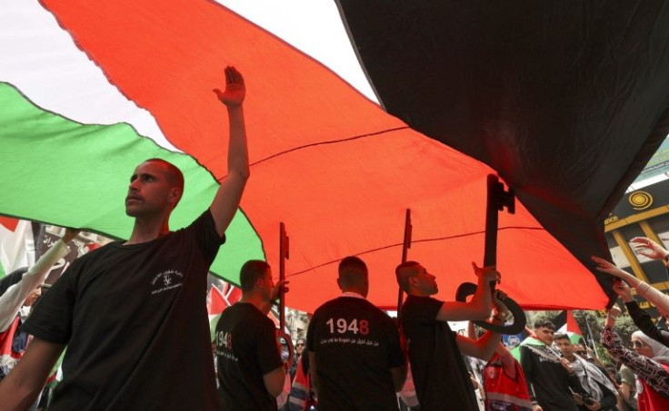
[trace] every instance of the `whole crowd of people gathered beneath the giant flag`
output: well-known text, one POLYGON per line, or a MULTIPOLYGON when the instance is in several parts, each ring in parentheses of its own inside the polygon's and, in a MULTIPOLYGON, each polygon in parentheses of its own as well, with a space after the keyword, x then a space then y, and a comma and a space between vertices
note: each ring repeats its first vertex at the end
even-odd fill
MULTIPOLYGON (((436 277, 417 261, 404 262, 395 276, 407 298, 395 320, 366 299, 374 285, 354 256, 339 264, 341 295, 315 309, 288 358, 267 317, 287 282, 275 283, 265 261, 247 261, 242 298, 216 324, 212 361, 206 274, 249 178, 241 73, 226 67, 225 91, 215 95, 230 124, 228 172, 195 221, 169 230, 184 177, 150 159, 130 178, 125 212, 135 224, 128 240, 76 259, 32 309, 77 230, 66 230, 31 269, 0 282, 0 411, 35 409, 61 356, 63 379, 49 405, 56 411, 669 410, 669 333, 639 308, 630 287, 663 315, 669 298, 598 258, 600 271, 620 279, 614 290, 640 328, 629 349, 614 331, 620 310, 606 318, 602 342, 624 364, 620 381, 568 336, 555 335, 550 321, 534 324, 520 362, 499 333, 454 332, 449 321, 507 322, 494 267, 474 264, 474 296, 461 302, 434 298, 436 277), (483 364, 481 375, 469 358, 483 364)), ((645 256, 669 261, 654 241, 633 241, 645 256)))

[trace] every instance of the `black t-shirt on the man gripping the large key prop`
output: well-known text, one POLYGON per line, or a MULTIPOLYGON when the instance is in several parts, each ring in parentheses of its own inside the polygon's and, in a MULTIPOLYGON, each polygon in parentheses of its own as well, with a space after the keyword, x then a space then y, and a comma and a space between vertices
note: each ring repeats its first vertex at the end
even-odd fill
POLYGON ((436 314, 444 301, 408 296, 402 328, 421 410, 478 411, 474 387, 455 342, 455 333, 436 314))

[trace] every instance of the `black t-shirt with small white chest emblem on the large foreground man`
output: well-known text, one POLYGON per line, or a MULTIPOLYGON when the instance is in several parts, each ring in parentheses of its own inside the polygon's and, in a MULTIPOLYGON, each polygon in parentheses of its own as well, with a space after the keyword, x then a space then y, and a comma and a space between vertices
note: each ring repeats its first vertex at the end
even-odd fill
POLYGON ((207 210, 165 237, 76 259, 24 326, 67 345, 49 409, 220 409, 205 299, 224 240, 207 210))

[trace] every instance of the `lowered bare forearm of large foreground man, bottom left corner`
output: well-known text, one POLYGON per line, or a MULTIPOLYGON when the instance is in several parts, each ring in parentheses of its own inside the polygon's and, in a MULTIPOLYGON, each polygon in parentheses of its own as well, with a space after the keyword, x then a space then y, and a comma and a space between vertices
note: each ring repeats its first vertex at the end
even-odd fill
POLYGON ((35 403, 64 345, 33 338, 9 376, 0 382, 0 411, 25 410, 35 403))

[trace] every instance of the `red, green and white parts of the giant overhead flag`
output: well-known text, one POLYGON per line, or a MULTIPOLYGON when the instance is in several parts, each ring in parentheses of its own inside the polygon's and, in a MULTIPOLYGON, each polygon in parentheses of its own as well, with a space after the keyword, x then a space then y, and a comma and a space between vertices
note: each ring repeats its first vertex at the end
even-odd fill
MULTIPOLYGON (((185 172, 171 227, 189 223, 225 174, 225 109, 211 90, 234 64, 247 83, 252 175, 215 273, 236 283, 240 265, 257 258, 276 271, 284 221, 289 307, 311 311, 335 297, 347 255, 367 262, 370 299, 394 307, 411 209, 409 258, 452 299, 475 280, 485 177, 495 171, 384 112, 334 3, 234 3, 4 1, 0 213, 125 238, 130 173, 161 157, 185 172)), ((521 202, 500 216, 498 267, 524 308, 608 299, 521 202)))

